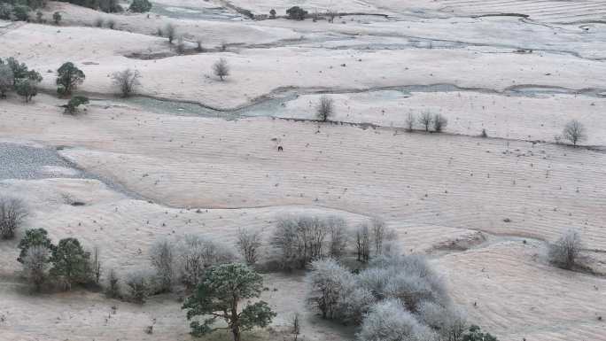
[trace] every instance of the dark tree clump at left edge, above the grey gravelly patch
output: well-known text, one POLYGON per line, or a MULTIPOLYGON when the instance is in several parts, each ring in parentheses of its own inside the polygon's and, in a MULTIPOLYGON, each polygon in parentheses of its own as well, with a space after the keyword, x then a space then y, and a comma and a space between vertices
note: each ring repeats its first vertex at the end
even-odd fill
POLYGON ((38 83, 43 80, 41 74, 29 70, 24 63, 15 58, 0 58, 0 98, 6 97, 11 89, 24 97, 25 102, 31 101, 38 94, 38 83))

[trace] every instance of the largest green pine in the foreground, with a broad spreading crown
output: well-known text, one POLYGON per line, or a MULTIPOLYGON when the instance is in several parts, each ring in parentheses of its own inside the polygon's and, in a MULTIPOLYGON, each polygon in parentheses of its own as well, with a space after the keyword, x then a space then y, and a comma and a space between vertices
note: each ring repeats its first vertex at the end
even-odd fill
POLYGON ((209 267, 204 280, 183 304, 183 309, 188 310, 188 320, 206 316, 202 322, 190 323, 191 334, 201 336, 217 329, 230 329, 234 340, 239 341, 242 331, 267 327, 276 314, 264 301, 248 304, 237 313, 241 299, 258 298, 262 289, 263 277, 244 264, 229 263, 209 267), (228 327, 216 327, 214 322, 218 318, 228 322, 228 327))

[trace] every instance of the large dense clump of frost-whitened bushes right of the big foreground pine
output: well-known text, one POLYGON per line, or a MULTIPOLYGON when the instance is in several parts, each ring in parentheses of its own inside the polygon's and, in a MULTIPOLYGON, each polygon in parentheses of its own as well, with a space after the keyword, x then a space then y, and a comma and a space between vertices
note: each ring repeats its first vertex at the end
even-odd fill
POLYGON ((465 340, 466 315, 428 262, 384 251, 358 274, 337 260, 313 261, 309 303, 325 319, 360 326, 359 341, 465 340))

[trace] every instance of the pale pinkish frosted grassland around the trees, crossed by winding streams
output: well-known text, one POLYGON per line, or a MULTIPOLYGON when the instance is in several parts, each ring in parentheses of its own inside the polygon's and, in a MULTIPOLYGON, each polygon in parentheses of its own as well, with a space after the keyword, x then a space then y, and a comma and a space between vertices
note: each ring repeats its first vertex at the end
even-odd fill
MULTIPOLYGON (((0 100, 0 193, 26 200, 27 227, 100 246, 120 274, 147 264, 160 237, 232 243, 250 227, 268 241, 287 213, 352 226, 377 216, 499 340, 606 340, 606 4, 297 4, 356 15, 254 21, 236 7, 284 15, 292 4, 161 0, 150 18, 51 2, 44 16, 61 11, 61 27, 0 21, 0 57, 44 77, 32 103, 0 100), (92 27, 97 18, 117 29, 92 27), (167 23, 185 55, 157 35, 167 23), (193 50, 198 39, 206 52, 193 50), (222 82, 219 58, 231 68, 222 82), (65 61, 93 99, 77 116, 55 95, 65 61), (121 99, 110 76, 127 67, 142 84, 121 99), (322 95, 334 122, 315 120, 322 95), (425 111, 448 119, 444 133, 406 131, 408 113, 425 111), (572 119, 587 127, 579 148, 555 143, 572 119), (567 228, 581 231, 595 274, 548 264, 546 242, 567 228)), ((82 290, 29 295, 18 239, 0 242, 0 340, 191 339, 174 295, 144 306, 82 290)), ((264 276, 274 329, 296 308, 306 340, 354 339, 306 306, 301 274, 264 276)))

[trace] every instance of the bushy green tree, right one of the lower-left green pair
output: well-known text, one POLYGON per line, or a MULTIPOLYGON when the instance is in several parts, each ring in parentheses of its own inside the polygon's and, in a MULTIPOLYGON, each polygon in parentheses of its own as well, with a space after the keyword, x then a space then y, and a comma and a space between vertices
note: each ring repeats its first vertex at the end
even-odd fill
POLYGON ((85 252, 76 238, 61 239, 52 250, 51 275, 61 278, 68 286, 90 280, 90 252, 85 252))

